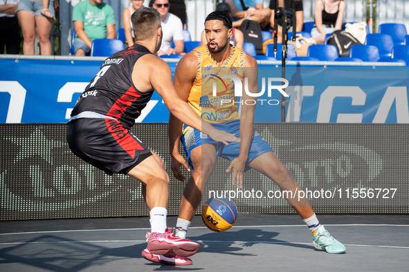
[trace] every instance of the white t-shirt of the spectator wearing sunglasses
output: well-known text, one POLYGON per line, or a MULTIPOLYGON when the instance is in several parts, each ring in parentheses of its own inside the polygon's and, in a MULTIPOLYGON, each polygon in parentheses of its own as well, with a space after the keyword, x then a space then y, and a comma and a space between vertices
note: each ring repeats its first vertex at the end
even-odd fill
POLYGON ((163 39, 161 51, 166 52, 172 47, 173 40, 183 40, 183 25, 181 19, 172 13, 167 13, 162 22, 163 39))

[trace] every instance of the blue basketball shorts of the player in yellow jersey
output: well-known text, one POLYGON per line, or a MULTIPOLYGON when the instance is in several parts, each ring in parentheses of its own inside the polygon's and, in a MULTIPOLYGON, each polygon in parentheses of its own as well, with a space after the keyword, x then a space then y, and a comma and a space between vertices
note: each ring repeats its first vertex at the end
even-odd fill
MULTIPOLYGON (((224 124, 212 124, 212 126, 214 128, 217 128, 218 130, 224 130, 227 133, 234 134, 236 137, 240 137, 240 120, 233 120, 224 124)), ((188 164, 192 169, 193 166, 190 160, 190 153, 192 152, 193 148, 201 146, 202 144, 215 145, 217 148, 217 157, 223 157, 224 159, 230 160, 230 162, 233 161, 233 159, 235 159, 236 157, 239 157, 240 153, 240 143, 230 142, 226 146, 221 142, 213 141, 208 135, 201 133, 199 130, 196 130, 185 124, 183 124, 181 141, 183 144, 183 149, 185 150, 185 154, 188 157, 188 164)), ((274 152, 269 144, 264 141, 263 137, 259 133, 257 133, 256 130, 253 130, 253 138, 251 139, 251 146, 246 165, 256 157, 270 151, 274 152)), ((250 169, 250 167, 246 166, 246 168, 244 168, 244 171, 248 171, 250 169)))

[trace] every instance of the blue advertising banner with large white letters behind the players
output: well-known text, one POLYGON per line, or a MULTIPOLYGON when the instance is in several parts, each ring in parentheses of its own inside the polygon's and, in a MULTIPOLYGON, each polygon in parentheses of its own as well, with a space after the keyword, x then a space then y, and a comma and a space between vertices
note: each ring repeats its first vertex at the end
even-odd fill
MULTIPOLYGON (((0 59, 0 123, 67 122, 102 63, 0 59)), ((174 72, 176 63, 170 67, 174 72)), ((261 64, 259 88, 281 76, 281 67, 261 64)), ((286 79, 287 122, 409 123, 407 66, 289 66, 286 79)), ((258 98, 255 122, 280 122, 281 94, 266 96, 258 98)), ((136 122, 167 122, 168 115, 163 99, 154 93, 136 122)))

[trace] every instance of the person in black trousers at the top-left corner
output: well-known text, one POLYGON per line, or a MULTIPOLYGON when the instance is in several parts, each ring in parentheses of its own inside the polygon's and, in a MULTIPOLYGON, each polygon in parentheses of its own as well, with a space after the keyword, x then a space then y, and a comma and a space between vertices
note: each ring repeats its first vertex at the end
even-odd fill
POLYGON ((0 0, 0 54, 19 54, 20 27, 17 19, 19 0, 0 0))

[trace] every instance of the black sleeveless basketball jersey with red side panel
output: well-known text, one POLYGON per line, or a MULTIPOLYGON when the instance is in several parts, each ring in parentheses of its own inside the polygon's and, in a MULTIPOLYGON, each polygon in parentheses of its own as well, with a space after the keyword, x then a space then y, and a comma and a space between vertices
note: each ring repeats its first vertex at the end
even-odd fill
POLYGON ((71 117, 90 111, 113 117, 124 128, 134 126, 135 119, 154 93, 154 90, 140 93, 132 82, 136 61, 146 54, 152 53, 135 43, 105 59, 98 74, 78 98, 71 117))

